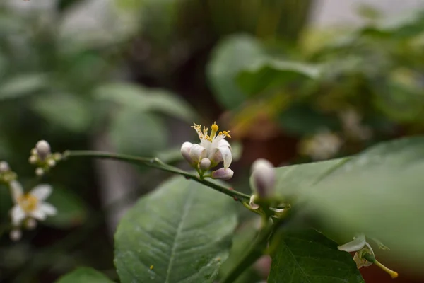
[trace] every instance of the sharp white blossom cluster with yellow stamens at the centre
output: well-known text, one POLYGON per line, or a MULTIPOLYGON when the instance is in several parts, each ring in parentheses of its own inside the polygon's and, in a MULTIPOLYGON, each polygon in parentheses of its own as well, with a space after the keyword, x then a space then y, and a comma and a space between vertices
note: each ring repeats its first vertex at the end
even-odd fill
POLYGON ((225 137, 230 138, 229 131, 218 132, 218 125, 213 123, 211 134, 208 128, 201 129, 201 125, 192 126, 199 135, 200 143, 192 144, 184 142, 181 146, 181 154, 187 162, 196 169, 201 178, 211 177, 213 179, 229 180, 234 172, 229 168, 232 162, 231 146, 225 137), (223 162, 223 168, 211 171, 211 169, 223 162))

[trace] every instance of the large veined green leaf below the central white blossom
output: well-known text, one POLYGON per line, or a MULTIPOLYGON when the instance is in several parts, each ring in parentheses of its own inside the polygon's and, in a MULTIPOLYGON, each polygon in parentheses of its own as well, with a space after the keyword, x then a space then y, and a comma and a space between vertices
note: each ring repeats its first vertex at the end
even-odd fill
POLYGON ((213 282, 236 225, 230 197, 172 178, 142 197, 118 226, 115 265, 121 282, 213 282))

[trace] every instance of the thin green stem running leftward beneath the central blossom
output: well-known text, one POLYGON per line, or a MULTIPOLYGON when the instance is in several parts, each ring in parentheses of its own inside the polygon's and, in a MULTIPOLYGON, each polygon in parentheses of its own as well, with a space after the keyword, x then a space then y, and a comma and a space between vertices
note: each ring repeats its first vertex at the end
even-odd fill
POLYGON ((225 195, 229 195, 230 197, 235 197, 237 200, 249 200, 250 196, 246 195, 242 192, 237 192, 236 190, 230 190, 228 187, 223 185, 219 185, 217 183, 213 183, 209 180, 201 179, 198 175, 194 175, 187 171, 181 170, 177 167, 170 166, 166 163, 160 161, 159 158, 147 158, 147 157, 137 157, 137 156, 129 156, 125 154, 113 154, 110 152, 104 151, 65 151, 64 158, 68 157, 93 157, 93 158, 106 158, 106 159, 114 159, 119 161, 125 161, 127 163, 134 163, 136 165, 148 166, 152 168, 157 168, 162 171, 167 171, 170 173, 175 173, 179 175, 183 175, 187 179, 195 180, 197 183, 201 183, 208 187, 211 187, 213 190, 217 190, 218 192, 222 192, 225 195))

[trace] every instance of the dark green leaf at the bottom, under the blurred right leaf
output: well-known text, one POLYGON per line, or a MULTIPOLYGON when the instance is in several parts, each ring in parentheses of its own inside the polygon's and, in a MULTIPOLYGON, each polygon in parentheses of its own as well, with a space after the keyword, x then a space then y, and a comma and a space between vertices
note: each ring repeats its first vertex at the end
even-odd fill
POLYGON ((290 232, 278 238, 271 254, 269 283, 365 282, 349 253, 314 230, 290 232))

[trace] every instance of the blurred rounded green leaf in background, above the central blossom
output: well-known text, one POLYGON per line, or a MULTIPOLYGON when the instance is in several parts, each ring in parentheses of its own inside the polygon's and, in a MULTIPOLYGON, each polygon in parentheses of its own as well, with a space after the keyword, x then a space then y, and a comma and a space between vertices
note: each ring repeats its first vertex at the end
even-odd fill
POLYGON ((235 35, 219 43, 206 71, 213 95, 221 105, 234 109, 245 102, 247 94, 237 86, 236 76, 264 56, 260 42, 248 35, 235 35))

